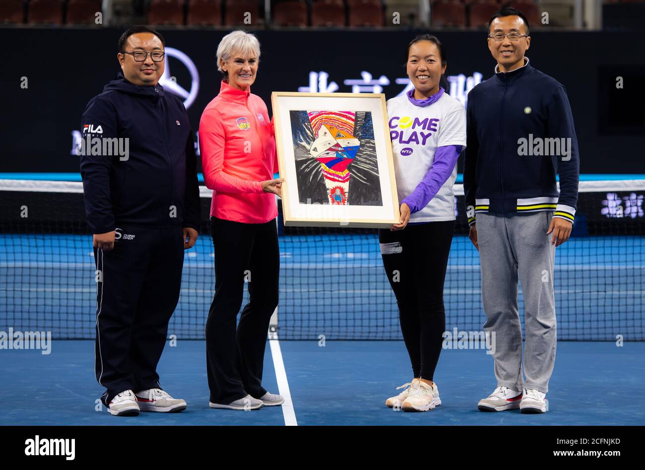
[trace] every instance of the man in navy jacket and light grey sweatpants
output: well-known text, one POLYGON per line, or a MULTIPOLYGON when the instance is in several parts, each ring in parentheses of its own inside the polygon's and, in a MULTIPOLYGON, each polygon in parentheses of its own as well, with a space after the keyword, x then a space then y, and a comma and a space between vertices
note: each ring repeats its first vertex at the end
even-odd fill
POLYGON ((578 143, 566 90, 524 57, 529 34, 515 8, 495 13, 488 36, 495 76, 468 94, 466 213, 481 261, 484 330, 495 332, 497 388, 479 402, 482 411, 547 409, 556 347, 555 247, 571 234, 578 199, 578 143))

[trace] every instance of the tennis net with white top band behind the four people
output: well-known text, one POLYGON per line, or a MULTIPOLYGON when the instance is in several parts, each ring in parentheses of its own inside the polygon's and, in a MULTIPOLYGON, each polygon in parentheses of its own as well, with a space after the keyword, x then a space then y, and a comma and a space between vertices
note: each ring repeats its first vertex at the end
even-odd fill
MULTIPOLYGON (((485 321, 479 256, 467 237, 461 185, 455 194, 446 330, 479 332, 485 321)), ((559 339, 644 339, 644 195, 645 180, 581 182, 573 234, 556 252, 559 339)), ((210 191, 204 187, 201 201, 201 236, 185 254, 179 305, 168 328, 181 339, 204 338, 215 285, 210 191)), ((401 339, 376 230, 284 227, 281 215, 278 228, 279 338, 401 339)), ((523 325, 521 290, 519 307, 523 325)), ((0 180, 0 331, 91 339, 95 311, 92 236, 81 183, 0 180)))

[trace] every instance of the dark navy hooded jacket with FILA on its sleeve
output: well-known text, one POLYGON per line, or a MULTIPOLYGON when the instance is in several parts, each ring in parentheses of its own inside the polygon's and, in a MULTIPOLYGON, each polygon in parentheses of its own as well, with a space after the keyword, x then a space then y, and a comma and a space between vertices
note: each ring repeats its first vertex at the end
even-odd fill
POLYGON ((161 85, 134 85, 119 72, 90 100, 81 129, 84 140, 89 134, 129 143, 127 159, 90 155, 90 148, 81 154, 92 233, 111 232, 117 224, 199 230, 197 158, 188 114, 177 97, 161 85))

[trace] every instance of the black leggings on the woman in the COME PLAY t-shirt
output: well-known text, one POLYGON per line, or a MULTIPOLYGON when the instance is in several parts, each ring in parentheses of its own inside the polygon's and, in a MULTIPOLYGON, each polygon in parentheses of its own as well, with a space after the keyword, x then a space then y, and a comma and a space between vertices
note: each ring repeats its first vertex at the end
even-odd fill
POLYGON ((446 310, 443 287, 455 221, 379 230, 385 272, 399 305, 401 332, 415 378, 433 380, 446 310))

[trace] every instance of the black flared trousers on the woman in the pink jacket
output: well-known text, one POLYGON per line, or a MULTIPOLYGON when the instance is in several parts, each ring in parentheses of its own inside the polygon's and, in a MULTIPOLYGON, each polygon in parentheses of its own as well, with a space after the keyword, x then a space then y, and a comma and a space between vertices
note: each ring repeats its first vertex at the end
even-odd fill
POLYGON ((266 334, 278 305, 280 252, 275 219, 241 223, 210 219, 215 247, 215 296, 206 320, 210 401, 229 404, 246 394, 260 398, 266 334), (237 331, 244 282, 249 303, 237 331))

